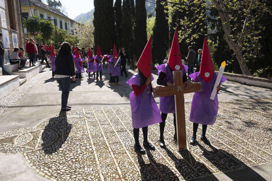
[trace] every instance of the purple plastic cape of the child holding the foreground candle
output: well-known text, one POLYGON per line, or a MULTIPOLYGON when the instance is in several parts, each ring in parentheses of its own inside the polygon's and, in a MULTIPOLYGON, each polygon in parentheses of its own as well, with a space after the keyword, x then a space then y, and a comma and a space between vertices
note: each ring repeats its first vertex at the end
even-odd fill
MULTIPOLYGON (((212 94, 213 85, 217 78, 217 73, 214 73, 214 76, 209 83, 201 78, 199 72, 195 72, 189 76, 195 82, 202 83, 202 92, 194 93, 189 121, 198 124, 213 125, 218 112, 217 93, 214 100, 211 100, 210 97, 212 94)), ((227 79, 222 76, 220 84, 225 80, 227 79)))

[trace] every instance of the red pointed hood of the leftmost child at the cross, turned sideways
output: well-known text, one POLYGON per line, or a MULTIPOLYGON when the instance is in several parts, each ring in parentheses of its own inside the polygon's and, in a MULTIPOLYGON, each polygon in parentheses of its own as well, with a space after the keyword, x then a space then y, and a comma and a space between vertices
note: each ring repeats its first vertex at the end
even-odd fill
POLYGON ((144 51, 140 59, 138 60, 136 66, 140 69, 140 71, 144 74, 146 78, 151 75, 151 68, 152 68, 152 34, 149 37, 149 40, 144 47, 144 51))

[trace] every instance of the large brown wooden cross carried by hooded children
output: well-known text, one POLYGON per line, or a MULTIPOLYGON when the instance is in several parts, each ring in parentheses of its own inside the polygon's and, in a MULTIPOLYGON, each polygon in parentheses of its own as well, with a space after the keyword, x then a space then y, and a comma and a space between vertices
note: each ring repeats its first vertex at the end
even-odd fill
POLYGON ((173 80, 175 88, 157 87, 153 89, 154 97, 175 96, 176 106, 176 133, 179 151, 186 150, 186 128, 185 128, 185 111, 184 111, 184 95, 191 92, 202 91, 201 82, 193 83, 189 89, 187 84, 183 84, 182 71, 173 71, 173 80))

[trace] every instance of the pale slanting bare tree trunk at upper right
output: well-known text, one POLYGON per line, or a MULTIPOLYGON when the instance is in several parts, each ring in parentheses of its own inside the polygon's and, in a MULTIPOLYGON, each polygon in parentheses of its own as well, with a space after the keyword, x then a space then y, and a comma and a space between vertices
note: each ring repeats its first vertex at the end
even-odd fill
POLYGON ((251 75, 251 73, 248 69, 248 66, 246 65, 246 62, 244 61, 244 56, 241 52, 241 47, 237 43, 235 43, 230 36, 231 27, 230 27, 228 14, 221 12, 221 11, 226 11, 223 1, 222 0, 213 0, 213 2, 215 3, 216 9, 219 10, 220 19, 222 21, 222 26, 223 26, 223 29, 225 32, 224 40, 226 40, 226 42, 228 43, 229 48, 235 52, 236 58, 239 62, 239 65, 240 65, 240 68, 241 68, 243 74, 244 75, 251 75), (218 1, 219 1, 220 5, 219 5, 218 1))

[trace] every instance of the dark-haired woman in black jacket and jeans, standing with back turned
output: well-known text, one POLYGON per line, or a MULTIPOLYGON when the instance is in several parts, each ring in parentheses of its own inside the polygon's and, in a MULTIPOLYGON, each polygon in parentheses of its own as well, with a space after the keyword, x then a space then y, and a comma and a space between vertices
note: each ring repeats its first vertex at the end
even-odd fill
POLYGON ((71 79, 76 80, 74 60, 72 49, 68 42, 63 42, 60 46, 60 51, 56 57, 55 78, 60 84, 61 94, 61 110, 70 111, 71 107, 67 106, 68 96, 70 92, 71 79))

